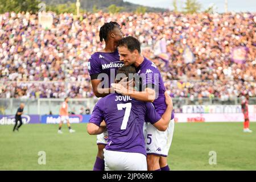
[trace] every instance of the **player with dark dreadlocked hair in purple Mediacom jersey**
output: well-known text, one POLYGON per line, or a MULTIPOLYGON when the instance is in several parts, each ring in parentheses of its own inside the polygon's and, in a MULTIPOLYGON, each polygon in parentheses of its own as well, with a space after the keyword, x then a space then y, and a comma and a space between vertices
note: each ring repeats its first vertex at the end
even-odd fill
MULTIPOLYGON (((100 28, 100 41, 105 41, 105 48, 100 52, 93 53, 88 62, 90 80, 92 82, 93 92, 96 97, 105 97, 110 92, 110 84, 115 82, 117 69, 123 66, 119 60, 118 42, 123 38, 121 28, 116 22, 105 23, 100 28), (101 77, 105 75, 105 79, 101 77), (101 83, 106 83, 101 85, 101 83)), ((93 171, 104 171, 104 151, 108 143, 108 133, 97 135, 98 153, 93 171)))

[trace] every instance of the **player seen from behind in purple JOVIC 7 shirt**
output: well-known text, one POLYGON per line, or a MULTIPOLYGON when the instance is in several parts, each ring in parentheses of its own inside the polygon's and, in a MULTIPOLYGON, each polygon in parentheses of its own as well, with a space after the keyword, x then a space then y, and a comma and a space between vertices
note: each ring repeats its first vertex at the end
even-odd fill
MULTIPOLYGON (((136 70, 133 66, 125 66, 118 69, 119 73, 128 77, 129 73, 135 74, 136 70)), ((91 135, 100 134, 105 131, 100 123, 102 120, 106 123, 109 134, 108 145, 104 149, 106 171, 147 171, 144 120, 147 118, 158 130, 165 131, 172 111, 171 97, 167 93, 165 102, 167 107, 162 118, 151 102, 138 101, 117 93, 109 94, 97 102, 87 130, 91 135)))

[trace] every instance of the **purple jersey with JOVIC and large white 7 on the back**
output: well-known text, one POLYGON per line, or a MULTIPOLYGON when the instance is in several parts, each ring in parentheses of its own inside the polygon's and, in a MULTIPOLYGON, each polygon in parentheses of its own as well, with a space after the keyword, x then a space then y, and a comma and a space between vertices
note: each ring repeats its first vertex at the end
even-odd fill
POLYGON ((106 150, 146 155, 143 123, 147 119, 154 124, 160 118, 152 103, 113 93, 97 102, 89 122, 100 126, 105 120, 109 133, 106 150))

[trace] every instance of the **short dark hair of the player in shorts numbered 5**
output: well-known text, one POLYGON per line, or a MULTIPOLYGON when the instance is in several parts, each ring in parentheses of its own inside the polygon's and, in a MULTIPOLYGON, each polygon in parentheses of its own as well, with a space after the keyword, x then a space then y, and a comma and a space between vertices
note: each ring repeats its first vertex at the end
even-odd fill
POLYGON ((127 47, 130 52, 138 50, 138 52, 141 53, 141 43, 139 43, 139 40, 133 36, 127 36, 126 38, 119 40, 119 47, 121 46, 127 47))

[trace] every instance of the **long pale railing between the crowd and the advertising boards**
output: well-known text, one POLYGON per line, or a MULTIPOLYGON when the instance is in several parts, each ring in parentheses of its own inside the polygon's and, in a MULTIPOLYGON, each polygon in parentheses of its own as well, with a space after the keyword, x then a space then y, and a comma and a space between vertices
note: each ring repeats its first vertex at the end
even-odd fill
MULTIPOLYGON (((62 98, 0 98, 0 114, 15 114, 20 103, 24 103, 24 113, 26 114, 59 114, 60 104, 64 101, 62 98)), ((80 114, 81 107, 89 107, 93 110, 98 98, 70 98, 69 111, 80 114)), ((220 98, 172 98, 174 109, 178 110, 184 105, 240 105, 241 98, 234 97, 222 100, 220 98)), ((251 97, 250 105, 256 105, 256 97, 251 97)))

